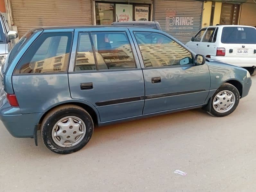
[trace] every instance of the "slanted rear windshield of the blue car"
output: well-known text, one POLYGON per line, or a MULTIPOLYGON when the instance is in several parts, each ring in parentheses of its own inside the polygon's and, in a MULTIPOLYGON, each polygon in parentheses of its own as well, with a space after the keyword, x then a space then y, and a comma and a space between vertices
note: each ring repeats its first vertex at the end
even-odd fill
POLYGON ((28 31, 22 38, 14 45, 12 50, 9 52, 4 65, 2 67, 3 71, 6 70, 7 66, 13 61, 18 52, 22 49, 23 45, 27 43, 30 37, 34 34, 35 31, 28 31))

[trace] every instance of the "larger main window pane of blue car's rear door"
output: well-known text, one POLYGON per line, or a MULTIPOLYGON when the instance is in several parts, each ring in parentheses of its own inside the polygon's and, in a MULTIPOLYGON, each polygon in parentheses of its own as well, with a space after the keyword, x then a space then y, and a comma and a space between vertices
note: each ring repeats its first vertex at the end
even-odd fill
POLYGON ((136 68, 125 32, 94 32, 92 39, 99 70, 136 68))

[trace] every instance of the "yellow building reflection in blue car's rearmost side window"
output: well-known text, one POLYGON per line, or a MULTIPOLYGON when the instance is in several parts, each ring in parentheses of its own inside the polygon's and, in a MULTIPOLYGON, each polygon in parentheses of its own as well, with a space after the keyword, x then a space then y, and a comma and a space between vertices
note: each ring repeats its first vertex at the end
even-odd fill
POLYGON ((20 73, 45 73, 52 71, 66 71, 69 53, 50 57, 44 60, 31 61, 21 67, 20 73))

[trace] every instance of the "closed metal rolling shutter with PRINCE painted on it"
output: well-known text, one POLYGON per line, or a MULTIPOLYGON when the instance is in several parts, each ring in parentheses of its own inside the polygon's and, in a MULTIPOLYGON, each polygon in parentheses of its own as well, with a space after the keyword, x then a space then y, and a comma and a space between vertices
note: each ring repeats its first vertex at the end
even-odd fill
POLYGON ((156 0, 154 6, 154 20, 182 43, 190 41, 201 28, 202 1, 156 0))

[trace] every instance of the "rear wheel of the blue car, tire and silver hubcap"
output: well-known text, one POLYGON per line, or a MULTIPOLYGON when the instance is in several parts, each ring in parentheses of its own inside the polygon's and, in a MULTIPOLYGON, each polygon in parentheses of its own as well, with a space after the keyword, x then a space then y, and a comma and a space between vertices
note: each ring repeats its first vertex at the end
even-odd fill
POLYGON ((64 105, 50 111, 42 121, 41 136, 47 148, 69 154, 83 148, 93 134, 92 117, 81 107, 64 105))

